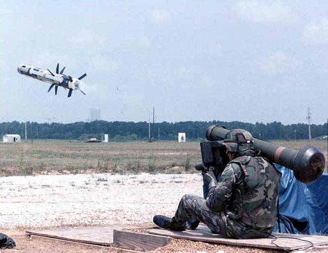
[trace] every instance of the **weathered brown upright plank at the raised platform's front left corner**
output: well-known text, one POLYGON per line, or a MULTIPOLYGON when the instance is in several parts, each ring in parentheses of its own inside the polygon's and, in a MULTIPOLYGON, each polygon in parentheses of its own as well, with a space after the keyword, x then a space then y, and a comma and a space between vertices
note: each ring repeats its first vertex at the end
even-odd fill
POLYGON ((114 247, 135 250, 153 251, 170 242, 169 237, 144 233, 135 233, 114 229, 114 247))

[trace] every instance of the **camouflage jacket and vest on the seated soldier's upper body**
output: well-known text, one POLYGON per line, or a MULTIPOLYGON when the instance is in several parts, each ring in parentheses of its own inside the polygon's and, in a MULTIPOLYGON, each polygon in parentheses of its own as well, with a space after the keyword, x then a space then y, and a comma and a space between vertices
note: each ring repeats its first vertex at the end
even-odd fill
POLYGON ((262 157, 237 157, 224 169, 206 205, 223 212, 233 223, 271 233, 277 219, 280 177, 280 172, 262 157))

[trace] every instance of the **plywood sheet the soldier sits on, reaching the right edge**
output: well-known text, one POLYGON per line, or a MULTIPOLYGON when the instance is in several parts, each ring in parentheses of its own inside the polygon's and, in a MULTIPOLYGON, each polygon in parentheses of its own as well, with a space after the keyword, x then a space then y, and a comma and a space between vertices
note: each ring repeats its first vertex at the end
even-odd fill
POLYGON ((228 244, 237 246, 257 247, 257 248, 270 248, 281 249, 283 247, 286 250, 299 250, 310 246, 310 243, 301 241, 307 240, 313 243, 314 246, 328 245, 328 236, 317 235, 300 235, 300 234, 285 234, 285 233, 273 233, 274 236, 284 237, 275 241, 277 245, 272 244, 273 238, 260 238, 260 239, 228 239, 223 238, 219 234, 212 234, 211 230, 206 226, 199 226, 196 230, 185 231, 172 231, 162 228, 149 229, 149 233, 170 236, 173 238, 187 239, 192 241, 211 242, 218 244, 228 244), (291 238, 286 238, 291 237, 291 238), (298 240, 298 239, 301 240, 298 240))

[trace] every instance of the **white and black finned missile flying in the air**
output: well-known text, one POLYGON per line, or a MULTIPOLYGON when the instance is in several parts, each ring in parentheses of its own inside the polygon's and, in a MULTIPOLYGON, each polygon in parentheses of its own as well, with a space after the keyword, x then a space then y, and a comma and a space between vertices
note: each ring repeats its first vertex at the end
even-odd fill
POLYGON ((81 89, 81 79, 86 76, 84 74, 83 76, 80 76, 79 78, 73 78, 71 76, 64 75, 63 72, 65 70, 65 67, 62 69, 60 73, 59 72, 59 65, 57 65, 56 73, 52 73, 50 70, 44 70, 41 68, 33 67, 26 64, 20 64, 17 67, 17 71, 19 74, 23 76, 28 76, 34 79, 38 79, 43 82, 50 83, 51 86, 48 90, 48 92, 51 90, 51 88, 56 85, 55 87, 55 94, 57 95, 57 86, 64 87, 66 89, 70 89, 69 91, 69 97, 71 95, 71 92, 73 90, 80 90, 83 94, 85 94, 81 89))

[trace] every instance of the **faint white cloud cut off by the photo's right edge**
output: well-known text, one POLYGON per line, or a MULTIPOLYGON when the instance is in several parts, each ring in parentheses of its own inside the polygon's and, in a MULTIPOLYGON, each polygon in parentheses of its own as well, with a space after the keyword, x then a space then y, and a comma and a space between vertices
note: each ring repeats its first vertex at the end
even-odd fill
POLYGON ((328 20, 321 19, 319 22, 306 25, 302 39, 306 44, 327 44, 328 20))

